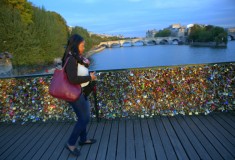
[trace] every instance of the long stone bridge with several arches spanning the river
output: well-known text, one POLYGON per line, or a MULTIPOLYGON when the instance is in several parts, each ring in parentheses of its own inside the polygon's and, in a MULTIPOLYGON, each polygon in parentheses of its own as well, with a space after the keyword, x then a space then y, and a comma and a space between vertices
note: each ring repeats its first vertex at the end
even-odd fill
POLYGON ((129 44, 130 46, 135 46, 137 43, 142 43, 144 45, 148 44, 178 44, 183 42, 182 38, 179 37, 156 37, 156 38, 134 38, 134 39, 124 39, 117 41, 107 41, 101 42, 99 46, 104 46, 106 48, 112 48, 113 46, 119 45, 123 47, 124 44, 129 44))

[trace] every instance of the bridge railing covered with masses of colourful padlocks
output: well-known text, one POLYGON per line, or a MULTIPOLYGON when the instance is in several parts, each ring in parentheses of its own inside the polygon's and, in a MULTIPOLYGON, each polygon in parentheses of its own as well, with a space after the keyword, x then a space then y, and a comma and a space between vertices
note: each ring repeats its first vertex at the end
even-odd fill
MULTIPOLYGON (((235 62, 96 72, 96 92, 89 97, 92 117, 144 118, 235 109, 235 62)), ((68 104, 48 94, 51 77, 0 79, 0 121, 74 120, 68 104)))

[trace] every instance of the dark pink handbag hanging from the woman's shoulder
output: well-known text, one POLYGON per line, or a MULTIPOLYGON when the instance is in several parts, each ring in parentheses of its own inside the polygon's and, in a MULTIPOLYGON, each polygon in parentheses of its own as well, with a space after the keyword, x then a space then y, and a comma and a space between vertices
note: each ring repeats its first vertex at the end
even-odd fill
POLYGON ((64 71, 68 59, 62 69, 56 69, 54 71, 49 87, 49 94, 55 98, 73 102, 80 97, 82 89, 80 84, 71 84, 68 80, 67 74, 64 71))

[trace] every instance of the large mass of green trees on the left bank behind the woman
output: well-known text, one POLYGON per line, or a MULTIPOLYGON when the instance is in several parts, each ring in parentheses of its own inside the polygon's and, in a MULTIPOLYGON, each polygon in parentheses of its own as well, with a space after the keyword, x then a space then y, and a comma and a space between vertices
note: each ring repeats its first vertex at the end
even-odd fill
POLYGON ((53 63, 56 57, 62 57, 68 38, 65 20, 55 12, 26 3, 31 8, 31 12, 27 12, 31 14, 28 16, 31 22, 26 23, 16 2, 23 3, 25 0, 0 3, 0 52, 12 53, 12 62, 16 67, 43 66, 53 63))

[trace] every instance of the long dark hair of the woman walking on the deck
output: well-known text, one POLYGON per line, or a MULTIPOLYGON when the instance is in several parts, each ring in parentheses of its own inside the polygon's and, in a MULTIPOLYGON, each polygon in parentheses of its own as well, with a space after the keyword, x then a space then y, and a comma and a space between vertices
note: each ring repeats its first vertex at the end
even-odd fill
POLYGON ((67 57, 69 56, 69 53, 72 54, 72 56, 77 59, 77 61, 81 61, 81 58, 79 56, 79 50, 78 50, 78 45, 83 42, 84 39, 82 36, 80 36, 79 34, 74 34, 72 35, 67 42, 67 46, 64 52, 64 56, 62 58, 62 66, 64 65, 67 57))

